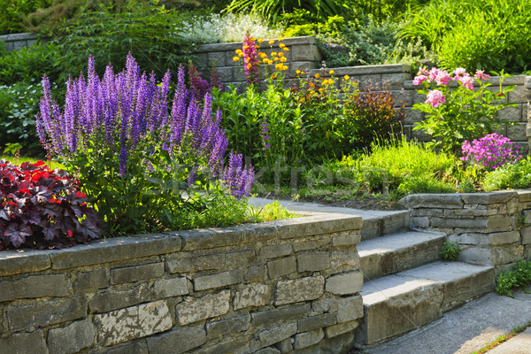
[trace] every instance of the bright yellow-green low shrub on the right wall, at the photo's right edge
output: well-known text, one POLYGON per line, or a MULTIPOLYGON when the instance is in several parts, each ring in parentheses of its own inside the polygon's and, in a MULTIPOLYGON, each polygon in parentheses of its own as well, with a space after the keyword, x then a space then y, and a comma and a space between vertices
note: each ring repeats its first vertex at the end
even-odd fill
POLYGON ((485 175, 483 189, 486 191, 500 189, 526 189, 531 187, 531 160, 519 160, 516 164, 497 167, 485 175))

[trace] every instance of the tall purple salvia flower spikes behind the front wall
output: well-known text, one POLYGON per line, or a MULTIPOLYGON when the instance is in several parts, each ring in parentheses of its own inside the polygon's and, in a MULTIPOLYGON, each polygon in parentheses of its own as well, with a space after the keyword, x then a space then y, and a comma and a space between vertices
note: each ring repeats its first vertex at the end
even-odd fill
POLYGON ((191 154, 205 161, 207 165, 194 163, 189 181, 195 181, 196 173, 207 168, 215 178, 222 177, 222 184, 235 196, 249 194, 254 178, 252 168, 242 169, 242 157, 231 153, 226 169, 231 173, 223 173, 228 142, 219 126, 221 112, 218 110, 213 118, 212 96, 205 92, 203 99, 197 100, 196 89, 186 88, 182 66, 170 114, 167 102, 170 73, 157 85, 154 74, 141 74, 130 54, 121 73, 114 74, 109 65, 100 80, 94 67, 94 58, 89 58, 87 79, 83 75, 69 78, 63 112, 51 98, 50 81, 43 78, 44 96, 36 126, 43 146, 50 153, 68 158, 86 153, 89 148, 110 151, 123 177, 130 163, 128 156, 155 145, 177 159, 191 154))

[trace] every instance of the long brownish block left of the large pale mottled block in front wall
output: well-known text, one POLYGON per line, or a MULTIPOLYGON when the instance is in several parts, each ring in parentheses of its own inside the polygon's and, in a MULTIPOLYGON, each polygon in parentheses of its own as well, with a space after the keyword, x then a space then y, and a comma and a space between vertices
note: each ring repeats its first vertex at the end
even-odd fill
POLYGON ((7 310, 7 320, 13 331, 30 326, 56 325, 85 316, 87 316, 87 300, 83 296, 20 304, 7 310))

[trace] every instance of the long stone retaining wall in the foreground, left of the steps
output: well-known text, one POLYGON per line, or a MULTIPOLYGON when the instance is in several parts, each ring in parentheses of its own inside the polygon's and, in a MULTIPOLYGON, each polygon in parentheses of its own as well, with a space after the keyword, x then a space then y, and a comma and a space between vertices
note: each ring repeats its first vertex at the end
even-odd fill
POLYGON ((0 252, 0 353, 347 352, 363 304, 342 214, 0 252))

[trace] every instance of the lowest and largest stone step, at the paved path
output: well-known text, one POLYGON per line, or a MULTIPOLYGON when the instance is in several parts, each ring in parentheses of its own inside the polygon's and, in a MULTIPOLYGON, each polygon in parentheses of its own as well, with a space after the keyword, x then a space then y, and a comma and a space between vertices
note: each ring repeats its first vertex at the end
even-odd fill
POLYGON ((439 319, 495 288, 494 268, 435 262, 375 281, 361 292, 364 318, 356 342, 371 348, 439 319))

